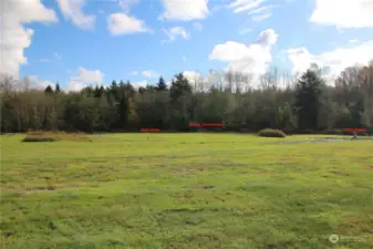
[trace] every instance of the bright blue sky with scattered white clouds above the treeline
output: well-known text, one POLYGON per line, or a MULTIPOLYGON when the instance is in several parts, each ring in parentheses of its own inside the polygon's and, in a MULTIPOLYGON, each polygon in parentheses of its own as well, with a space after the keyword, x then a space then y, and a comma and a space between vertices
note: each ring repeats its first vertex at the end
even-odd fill
POLYGON ((1 0, 0 73, 63 89, 373 59, 373 0, 1 0))

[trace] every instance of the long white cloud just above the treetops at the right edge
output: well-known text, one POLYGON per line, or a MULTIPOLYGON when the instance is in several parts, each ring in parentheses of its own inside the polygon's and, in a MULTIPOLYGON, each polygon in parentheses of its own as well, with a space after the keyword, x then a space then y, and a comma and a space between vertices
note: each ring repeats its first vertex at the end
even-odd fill
POLYGON ((328 66, 329 73, 325 75, 333 79, 342 70, 356 63, 367 64, 373 59, 373 40, 359 45, 344 45, 332 51, 312 54, 305 48, 288 50, 288 59, 291 61, 293 73, 304 72, 311 63, 319 66, 328 66))

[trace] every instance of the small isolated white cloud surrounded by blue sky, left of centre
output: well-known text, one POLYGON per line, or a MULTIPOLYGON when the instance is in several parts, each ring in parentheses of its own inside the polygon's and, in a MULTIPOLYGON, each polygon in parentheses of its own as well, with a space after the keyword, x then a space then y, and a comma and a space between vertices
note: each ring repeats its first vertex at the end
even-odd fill
POLYGON ((152 32, 143 20, 125 13, 112 13, 107 18, 107 29, 113 35, 152 32))

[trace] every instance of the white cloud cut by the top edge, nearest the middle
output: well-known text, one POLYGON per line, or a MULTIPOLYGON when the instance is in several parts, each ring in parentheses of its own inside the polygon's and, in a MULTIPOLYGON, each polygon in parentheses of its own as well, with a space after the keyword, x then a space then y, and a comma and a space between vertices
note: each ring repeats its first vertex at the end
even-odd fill
POLYGON ((209 13, 208 0, 162 0, 165 12, 159 19, 189 21, 209 13))

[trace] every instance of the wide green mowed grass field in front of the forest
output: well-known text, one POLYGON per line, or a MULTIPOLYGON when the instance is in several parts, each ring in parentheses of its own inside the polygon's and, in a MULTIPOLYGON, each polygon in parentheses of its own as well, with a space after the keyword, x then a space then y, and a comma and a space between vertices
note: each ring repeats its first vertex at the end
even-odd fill
POLYGON ((2 248, 373 248, 370 141, 23 137, 1 136, 2 248))

